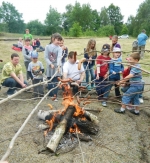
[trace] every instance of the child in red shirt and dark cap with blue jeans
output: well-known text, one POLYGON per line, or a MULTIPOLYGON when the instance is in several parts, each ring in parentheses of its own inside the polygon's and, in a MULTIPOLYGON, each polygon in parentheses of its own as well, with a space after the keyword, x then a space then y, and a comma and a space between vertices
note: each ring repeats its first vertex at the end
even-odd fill
MULTIPOLYGON (((110 45, 104 44, 102 47, 101 55, 97 57, 97 70, 96 70, 96 91, 98 94, 98 99, 101 97, 107 98, 108 93, 105 93, 108 91, 107 85, 108 83, 102 82, 103 80, 107 81, 108 77, 108 63, 103 60, 111 60, 109 57, 110 53, 110 45), (100 83, 102 82, 102 83, 100 83), (100 84, 99 84, 100 83, 100 84), (104 95, 103 95, 104 94, 104 95)), ((106 102, 102 102, 102 106, 107 106, 106 102)))

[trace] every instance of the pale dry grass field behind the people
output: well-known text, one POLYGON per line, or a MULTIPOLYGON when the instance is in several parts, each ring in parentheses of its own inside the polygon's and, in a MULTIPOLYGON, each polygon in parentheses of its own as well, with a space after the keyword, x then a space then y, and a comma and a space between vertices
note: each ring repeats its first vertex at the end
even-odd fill
MULTIPOLYGON (((21 36, 21 35, 16 35, 15 36, 21 36)), ((9 37, 9 36, 7 36, 9 37)), ((2 38, 2 37, 0 37, 2 38)), ((86 47, 87 42, 88 42, 89 38, 76 38, 76 39, 69 39, 66 38, 65 39, 65 45, 68 47, 69 51, 77 51, 77 54, 83 54, 83 49, 86 47)), ((96 40, 96 49, 98 51, 101 51, 102 45, 105 43, 111 44, 111 40, 109 40, 109 38, 105 37, 105 38, 95 38, 96 40)), ((122 50, 125 52, 131 51, 132 49, 132 42, 135 39, 130 38, 130 39, 119 39, 119 43, 122 47, 122 50)), ((15 41, 0 41, 0 59, 2 59, 4 62, 0 63, 0 69, 2 68, 3 64, 5 64, 6 62, 8 62, 10 60, 10 55, 12 53, 14 53, 15 51, 12 50, 12 44, 17 43, 15 41)), ((47 44, 49 44, 49 40, 41 40, 41 45, 42 46, 46 46, 47 44)), ((147 41, 146 44, 146 48, 145 49, 149 49, 150 50, 150 41, 147 41)), ((20 56, 20 63, 23 66, 23 71, 25 72, 25 66, 23 63, 23 55, 22 52, 16 52, 19 54, 20 56)), ((99 53, 98 53, 99 55, 99 53)), ((128 53, 123 53, 123 61, 126 61, 125 59, 127 58, 128 53)), ((112 56, 112 54, 110 54, 110 56, 112 56)), ((79 55, 78 59, 82 58, 83 55, 79 55)), ((44 66, 45 64, 45 60, 44 60, 44 53, 40 52, 39 53, 39 60, 43 62, 44 66)), ((150 63, 150 53, 145 53, 145 57, 143 60, 140 61, 141 63, 150 63)), ((141 67, 147 71, 150 71, 150 66, 149 65, 141 65, 141 67)))

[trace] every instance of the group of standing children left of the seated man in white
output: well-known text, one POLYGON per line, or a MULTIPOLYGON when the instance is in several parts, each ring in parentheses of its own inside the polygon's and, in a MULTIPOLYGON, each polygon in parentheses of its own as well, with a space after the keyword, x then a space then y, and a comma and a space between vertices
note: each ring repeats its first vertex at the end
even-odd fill
MULTIPOLYGON (((38 61, 38 52, 33 49, 30 44, 30 39, 25 39, 25 45, 22 48, 24 56, 24 65, 27 72, 27 80, 32 80, 32 84, 37 84, 43 81, 44 66, 38 61)), ((64 40, 59 33, 55 33, 51 37, 51 42, 45 47, 44 59, 46 61, 46 76, 47 79, 53 79, 48 84, 48 89, 54 88, 58 82, 57 77, 61 76, 62 68, 56 73, 58 66, 62 66, 65 58, 68 55, 68 48, 64 46, 64 40)), ((34 97, 42 97, 44 95, 43 86, 36 86, 33 90, 34 97)), ((50 92, 49 96, 57 97, 58 89, 50 92)), ((57 98, 55 99, 57 101, 57 98)))

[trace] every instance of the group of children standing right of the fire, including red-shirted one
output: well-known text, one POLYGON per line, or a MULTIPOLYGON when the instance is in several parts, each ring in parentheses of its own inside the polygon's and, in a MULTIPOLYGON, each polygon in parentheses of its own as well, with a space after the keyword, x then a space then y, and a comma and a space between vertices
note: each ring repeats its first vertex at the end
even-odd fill
POLYGON ((125 113, 125 108, 127 108, 131 113, 139 115, 138 105, 143 103, 142 92, 144 90, 142 72, 140 65, 138 64, 140 60, 139 53, 132 53, 130 55, 127 59, 130 66, 124 69, 122 64, 121 46, 118 43, 117 36, 112 37, 111 46, 109 44, 104 44, 102 46, 101 54, 99 56, 97 56, 96 53, 95 40, 89 40, 87 48, 84 51, 84 57, 87 59, 84 63, 86 82, 89 83, 90 73, 90 83, 92 83, 91 86, 88 86, 88 89, 91 90, 95 83, 98 99, 102 102, 102 106, 107 106, 106 101, 112 86, 115 86, 116 97, 121 97, 119 89, 121 86, 123 92, 122 106, 120 109, 115 109, 114 111, 117 113, 125 113), (110 52, 112 52, 112 57, 110 57, 110 52), (94 66, 96 66, 95 74, 94 66), (121 79, 121 74, 123 75, 123 79, 121 79))

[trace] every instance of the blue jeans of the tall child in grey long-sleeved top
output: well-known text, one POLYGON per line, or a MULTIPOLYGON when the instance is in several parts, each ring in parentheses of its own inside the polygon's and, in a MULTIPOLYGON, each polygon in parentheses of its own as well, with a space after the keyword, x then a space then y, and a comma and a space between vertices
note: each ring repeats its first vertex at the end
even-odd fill
MULTIPOLYGON (((51 77, 48 77, 47 79, 50 80, 50 78, 51 78, 51 77)), ((58 78, 58 76, 54 77, 54 78, 52 79, 52 81, 48 83, 48 90, 51 90, 52 88, 54 88, 54 87, 57 86, 57 84, 58 84, 58 79, 57 79, 57 78, 58 78)), ((53 91, 51 91, 51 92, 49 93, 49 96, 50 96, 50 97, 54 97, 54 96, 57 97, 57 93, 58 93, 58 88, 56 88, 56 89, 54 89, 53 91)))

